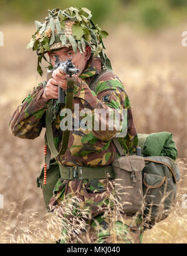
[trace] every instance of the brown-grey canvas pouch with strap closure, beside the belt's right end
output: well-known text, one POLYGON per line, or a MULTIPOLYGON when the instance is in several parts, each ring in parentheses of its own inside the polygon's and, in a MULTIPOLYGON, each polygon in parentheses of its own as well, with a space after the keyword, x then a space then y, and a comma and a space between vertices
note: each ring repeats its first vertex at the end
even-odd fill
POLYGON ((145 160, 138 155, 126 155, 113 162, 115 197, 125 214, 136 214, 143 205, 142 170, 145 160))

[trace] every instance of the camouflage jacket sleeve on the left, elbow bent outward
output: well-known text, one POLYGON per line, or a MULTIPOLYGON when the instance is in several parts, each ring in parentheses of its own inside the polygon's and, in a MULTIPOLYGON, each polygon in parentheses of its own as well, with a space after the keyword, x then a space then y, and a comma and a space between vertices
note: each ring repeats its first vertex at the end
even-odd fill
POLYGON ((41 134, 42 120, 47 108, 46 100, 41 98, 43 92, 41 83, 17 107, 9 122, 13 135, 22 139, 35 139, 41 134))

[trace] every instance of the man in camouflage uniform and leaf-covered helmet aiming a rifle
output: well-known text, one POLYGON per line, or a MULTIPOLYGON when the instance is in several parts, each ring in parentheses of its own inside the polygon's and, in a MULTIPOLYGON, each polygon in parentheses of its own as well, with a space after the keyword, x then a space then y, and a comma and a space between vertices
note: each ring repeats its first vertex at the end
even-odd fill
MULTIPOLYGON (((110 216, 109 219, 105 215, 109 204, 108 199, 113 191, 109 181, 115 178, 110 175, 110 179, 108 179, 105 170, 118 157, 112 139, 122 130, 123 109, 127 111, 127 134, 117 139, 126 155, 135 154, 138 137, 133 124, 132 109, 127 93, 120 79, 113 74, 110 60, 104 52, 105 46, 102 39, 108 33, 95 26, 90 20, 91 17, 92 14, 87 8, 70 7, 64 11, 59 9, 49 11, 44 23, 36 21, 37 31, 28 45, 37 52, 37 71, 41 75, 40 63, 42 58, 46 59, 44 55, 46 53, 49 54, 49 62, 52 66, 55 65, 57 58, 59 61, 72 59, 74 66, 79 69, 79 73, 74 75, 73 128, 70 130, 65 154, 55 157, 61 171, 49 206, 50 210, 53 210, 54 207, 63 205, 68 199, 77 197, 77 203, 74 205, 80 210, 79 212, 81 209, 82 211, 84 209, 89 211, 89 219, 85 220, 85 230, 82 230, 82 242, 139 243, 142 234, 139 217, 125 214, 123 220, 114 220, 114 215, 113 217, 110 216), (94 92, 89 86, 104 69, 108 69, 108 72, 99 77, 94 92), (114 109, 117 110, 120 114, 118 126, 114 125, 113 129, 109 129, 110 122, 105 121, 105 130, 95 129, 94 122, 92 122, 91 129, 82 129, 82 120, 80 120, 80 126, 75 127, 75 121, 78 118, 75 115, 75 104, 79 106, 79 118, 82 119, 81 111, 89 109, 92 121, 96 119, 94 116, 95 109, 109 112, 114 109), (74 177, 71 175, 71 177, 63 176, 65 170, 72 167, 73 170, 82 167, 87 174, 87 179, 77 179, 76 175, 74 177), (93 170, 98 171, 97 174, 93 174, 93 170), (85 240, 84 234, 90 234, 88 240, 85 240)), ((57 85, 66 90, 66 78, 67 74, 64 71, 56 69, 49 81, 42 82, 31 92, 11 118, 12 134, 23 139, 35 139, 39 136, 42 128, 47 125, 45 124, 45 116, 52 99, 52 104, 56 107, 52 117, 52 137, 55 148, 60 149, 62 146, 62 129, 60 129, 62 116, 60 116, 60 111, 64 106, 57 102, 57 85)), ((99 118, 98 124, 100 125, 101 122, 102 118, 99 118)), ((72 209, 73 218, 75 217, 74 210, 72 209)), ((112 211, 110 214, 114 214, 114 212, 112 211)), ((63 235, 65 234, 67 234, 67 227, 62 230, 61 243, 70 242, 69 239, 64 239, 65 236, 63 237, 63 235)), ((76 242, 76 235, 74 234, 73 237, 71 242, 76 242)))

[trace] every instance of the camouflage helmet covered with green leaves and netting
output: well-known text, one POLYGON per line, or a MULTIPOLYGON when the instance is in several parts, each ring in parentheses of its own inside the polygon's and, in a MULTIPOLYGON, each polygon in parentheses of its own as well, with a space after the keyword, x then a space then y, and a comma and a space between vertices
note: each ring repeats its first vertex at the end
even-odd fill
MULTIPOLYGON (((37 72, 42 76, 41 61, 49 51, 72 46, 74 52, 85 52, 85 47, 91 47, 93 56, 99 56, 102 64, 107 69, 112 69, 110 60, 106 56, 102 39, 108 36, 107 31, 102 31, 98 25, 94 25, 91 11, 85 7, 69 7, 64 11, 53 9, 45 22, 35 21, 36 32, 32 35, 27 48, 37 52, 37 72)), ((47 61, 48 62, 48 61, 47 61)), ((49 68, 52 68, 51 64, 49 68)))

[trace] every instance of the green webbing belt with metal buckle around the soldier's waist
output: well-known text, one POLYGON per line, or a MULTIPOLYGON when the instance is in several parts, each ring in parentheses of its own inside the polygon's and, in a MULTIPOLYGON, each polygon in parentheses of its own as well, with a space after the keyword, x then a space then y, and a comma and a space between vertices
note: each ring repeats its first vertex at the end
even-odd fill
POLYGON ((105 167, 63 167, 59 165, 60 177, 65 180, 84 179, 114 179, 115 172, 112 166, 105 167))

